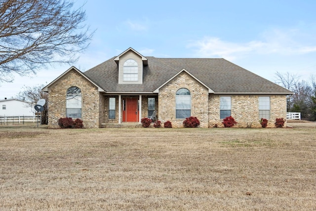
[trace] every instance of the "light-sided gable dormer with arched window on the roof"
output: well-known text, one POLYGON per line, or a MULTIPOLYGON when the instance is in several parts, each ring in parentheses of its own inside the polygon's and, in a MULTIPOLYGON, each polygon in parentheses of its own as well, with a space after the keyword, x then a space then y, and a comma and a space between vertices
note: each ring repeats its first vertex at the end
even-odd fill
POLYGON ((143 84, 143 69, 147 58, 133 48, 119 54, 114 61, 118 64, 118 84, 143 84))

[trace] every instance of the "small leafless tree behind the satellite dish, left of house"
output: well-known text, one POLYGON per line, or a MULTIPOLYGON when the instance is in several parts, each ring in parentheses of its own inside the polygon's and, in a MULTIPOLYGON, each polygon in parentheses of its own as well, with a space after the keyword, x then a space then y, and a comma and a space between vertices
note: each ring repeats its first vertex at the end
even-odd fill
MULTIPOLYGON (((41 89, 45 85, 35 85, 35 86, 24 86, 24 90, 20 91, 17 94, 17 98, 22 99, 22 100, 27 100, 32 103, 37 103, 40 99, 45 99, 46 103, 43 106, 44 110, 41 112, 41 124, 42 125, 47 125, 48 124, 48 93, 43 92, 41 89)), ((30 106, 34 106, 33 104, 30 106)))

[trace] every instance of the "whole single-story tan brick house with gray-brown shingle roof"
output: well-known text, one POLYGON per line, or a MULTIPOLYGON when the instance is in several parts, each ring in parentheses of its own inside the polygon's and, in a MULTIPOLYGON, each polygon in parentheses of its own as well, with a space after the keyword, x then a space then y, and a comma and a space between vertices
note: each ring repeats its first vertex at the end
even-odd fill
POLYGON ((291 92, 221 58, 144 57, 133 48, 82 73, 71 67, 43 91, 49 93, 49 127, 59 118, 80 118, 84 127, 139 124, 154 111, 161 123, 183 127, 195 116, 200 127, 261 127, 259 120, 286 119, 291 92))

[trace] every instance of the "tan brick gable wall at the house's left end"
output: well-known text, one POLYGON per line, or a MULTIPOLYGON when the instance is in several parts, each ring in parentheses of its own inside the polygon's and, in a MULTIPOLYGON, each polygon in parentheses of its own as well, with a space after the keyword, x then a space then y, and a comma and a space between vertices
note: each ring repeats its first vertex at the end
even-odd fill
POLYGON ((97 87, 75 70, 69 71, 49 89, 48 127, 57 128, 58 120, 66 117, 66 91, 71 86, 78 86, 81 89, 83 126, 100 127, 99 111, 102 95, 99 94, 97 87))

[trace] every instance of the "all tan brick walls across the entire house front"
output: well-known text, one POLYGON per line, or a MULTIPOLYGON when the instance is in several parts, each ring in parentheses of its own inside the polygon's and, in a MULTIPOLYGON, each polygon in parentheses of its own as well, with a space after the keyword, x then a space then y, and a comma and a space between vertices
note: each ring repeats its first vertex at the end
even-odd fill
MULTIPOLYGON (((82 93, 82 115, 84 127, 102 127, 102 123, 118 123, 118 95, 103 96, 97 87, 83 78, 75 70, 69 71, 49 89, 48 126, 58 127, 58 119, 66 117, 66 91, 71 86, 78 86, 82 93), (116 98, 116 119, 108 119, 109 97, 116 98)), ((200 127, 223 127, 220 119, 220 96, 232 97, 232 116, 238 122, 236 127, 261 127, 259 123, 259 95, 214 95, 194 78, 183 72, 160 88, 158 97, 142 96, 142 118, 148 116, 148 98, 155 97, 157 118, 163 124, 170 121, 173 127, 183 127, 184 119, 175 117, 175 96, 179 88, 191 92, 191 116, 197 117, 200 127)), ((260 95, 261 96, 261 95, 260 95)), ((268 127, 275 127, 276 118, 286 118, 285 95, 270 96, 271 115, 268 127)))

